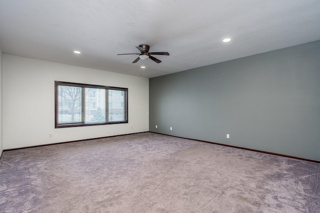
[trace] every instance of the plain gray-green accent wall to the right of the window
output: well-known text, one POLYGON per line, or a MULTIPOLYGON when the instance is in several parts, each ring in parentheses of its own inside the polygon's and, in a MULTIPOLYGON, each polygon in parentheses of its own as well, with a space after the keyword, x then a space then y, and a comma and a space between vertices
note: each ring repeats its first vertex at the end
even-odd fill
POLYGON ((320 41, 150 78, 149 131, 320 161, 320 41))

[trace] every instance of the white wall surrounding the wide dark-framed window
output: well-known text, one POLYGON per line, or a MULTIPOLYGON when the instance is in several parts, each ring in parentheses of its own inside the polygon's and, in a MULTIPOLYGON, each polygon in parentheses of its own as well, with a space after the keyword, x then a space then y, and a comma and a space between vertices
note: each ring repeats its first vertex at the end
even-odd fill
POLYGON ((148 131, 147 78, 8 54, 2 66, 4 150, 148 131), (55 80, 128 88, 128 123, 55 129, 55 80))

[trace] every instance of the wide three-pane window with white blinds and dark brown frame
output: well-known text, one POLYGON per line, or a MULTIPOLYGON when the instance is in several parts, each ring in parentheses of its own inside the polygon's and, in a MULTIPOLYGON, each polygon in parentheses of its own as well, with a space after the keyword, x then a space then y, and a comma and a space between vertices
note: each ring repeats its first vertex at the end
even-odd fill
POLYGON ((55 128, 127 123, 127 88, 55 81, 55 128))

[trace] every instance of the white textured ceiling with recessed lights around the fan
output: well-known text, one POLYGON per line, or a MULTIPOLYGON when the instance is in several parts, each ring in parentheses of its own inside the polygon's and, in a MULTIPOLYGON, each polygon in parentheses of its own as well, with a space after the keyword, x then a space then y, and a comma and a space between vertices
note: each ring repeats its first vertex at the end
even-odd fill
POLYGON ((0 0, 3 53, 148 78, 315 40, 320 0, 0 0))

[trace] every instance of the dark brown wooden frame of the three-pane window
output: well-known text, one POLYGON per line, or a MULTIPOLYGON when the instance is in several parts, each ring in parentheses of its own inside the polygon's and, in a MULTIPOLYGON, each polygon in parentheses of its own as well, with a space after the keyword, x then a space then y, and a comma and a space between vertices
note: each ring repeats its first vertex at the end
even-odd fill
MULTIPOLYGON (((105 104, 107 108, 107 103, 105 104)), ((108 115, 106 115, 108 117, 108 115)), ((108 119, 108 118, 107 118, 108 119)), ((112 87, 112 86, 101 86, 101 85, 93 85, 93 84, 82 84, 82 83, 73 83, 73 82, 65 82, 65 81, 54 81, 54 127, 55 128, 65 128, 65 127, 79 127, 79 126, 96 126, 96 125, 107 125, 107 124, 121 124, 121 123, 128 123, 128 88, 122 87, 112 87), (105 123, 88 123, 85 124, 83 122, 83 114, 84 114, 84 96, 81 96, 82 107, 81 107, 81 114, 82 114, 82 121, 81 123, 66 123, 66 124, 58 124, 58 103, 57 103, 57 86, 58 85, 65 85, 65 86, 77 86, 82 89, 84 88, 97 88, 97 89, 105 89, 105 90, 119 90, 125 92, 125 119, 124 121, 106 121, 105 123)))

